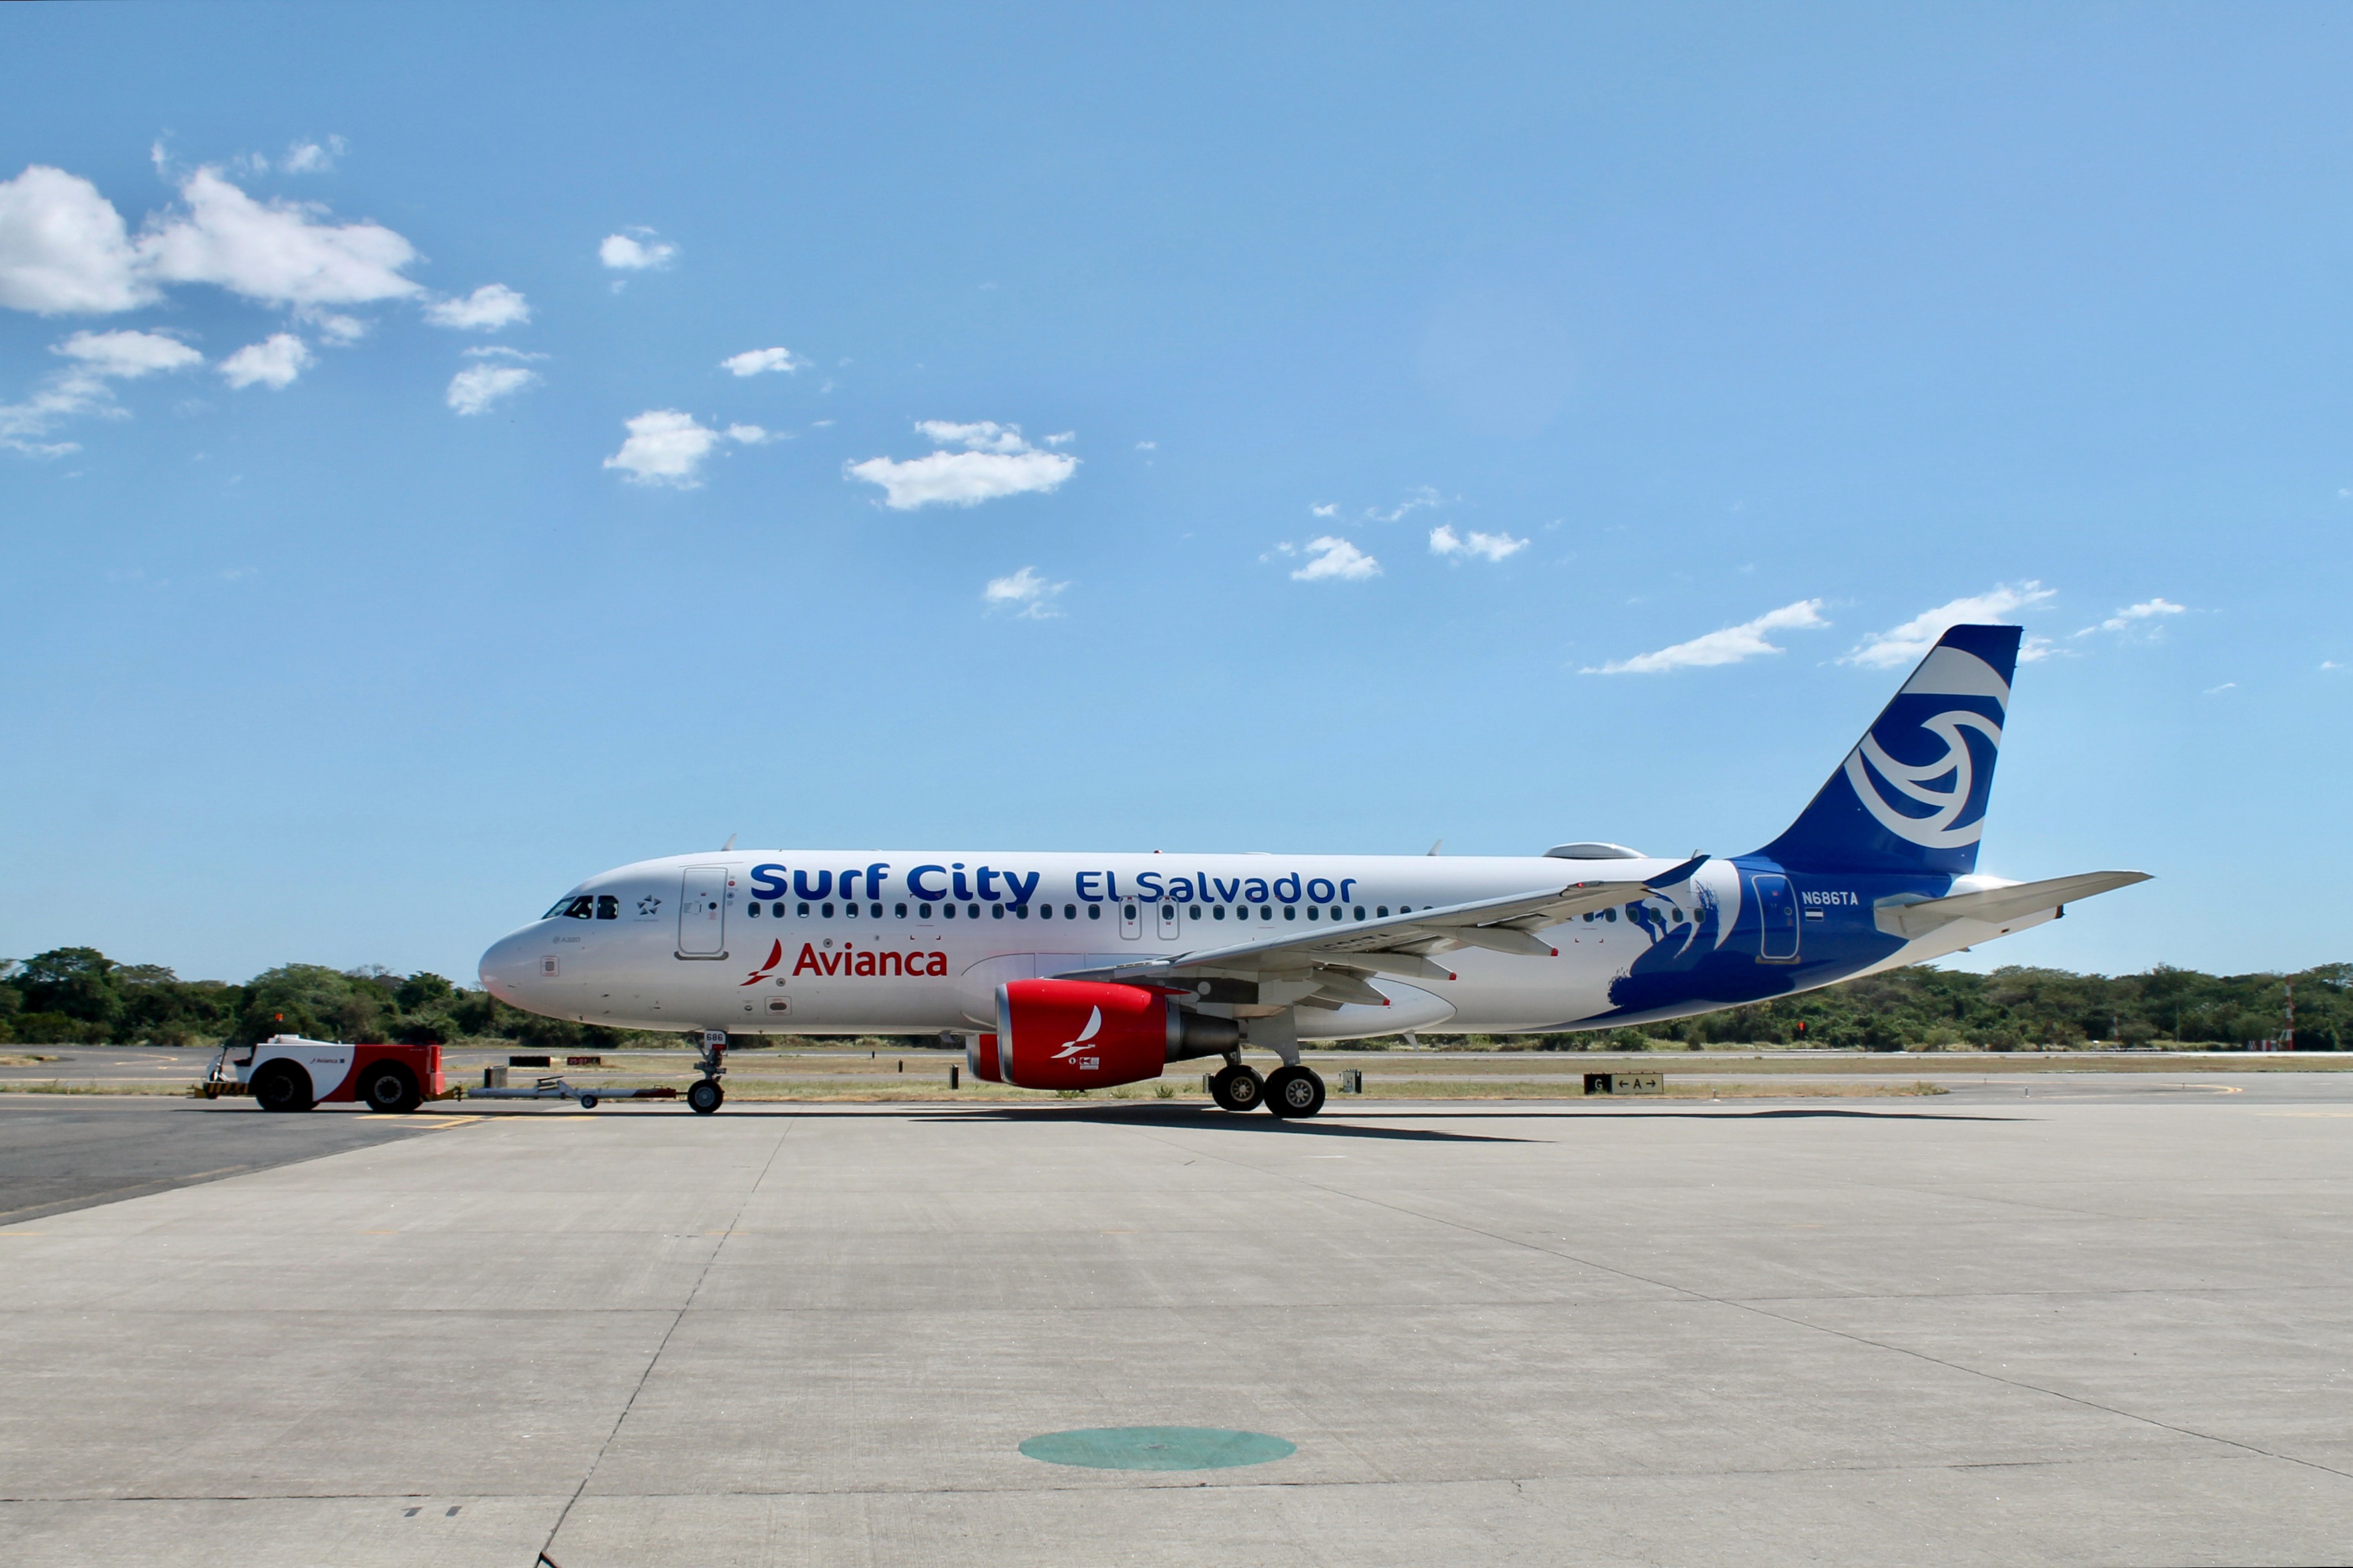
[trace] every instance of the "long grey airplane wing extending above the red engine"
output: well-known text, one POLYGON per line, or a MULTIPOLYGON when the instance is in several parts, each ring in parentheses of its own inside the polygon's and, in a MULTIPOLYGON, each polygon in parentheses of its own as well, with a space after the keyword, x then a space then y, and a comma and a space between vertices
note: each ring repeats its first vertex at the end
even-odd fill
POLYGON ((1301 1005, 1339 1008, 1341 1003, 1386 1005, 1386 996, 1367 984, 1374 975, 1417 979, 1454 979, 1454 970, 1435 961, 1464 946, 1525 958, 1551 958, 1553 946, 1537 937, 1548 925, 1581 913, 1612 909, 1682 883, 1706 862, 1694 855, 1649 881, 1591 881, 1518 892, 1499 899, 1475 899, 1440 909, 1388 916, 1325 930, 1282 932, 1259 942, 1235 942, 1191 954, 1167 954, 1139 963, 1094 970, 1071 970, 1059 979, 1118 979, 1132 984, 1176 984, 1191 989, 1202 977, 1228 979, 1313 979, 1318 991, 1301 1005))

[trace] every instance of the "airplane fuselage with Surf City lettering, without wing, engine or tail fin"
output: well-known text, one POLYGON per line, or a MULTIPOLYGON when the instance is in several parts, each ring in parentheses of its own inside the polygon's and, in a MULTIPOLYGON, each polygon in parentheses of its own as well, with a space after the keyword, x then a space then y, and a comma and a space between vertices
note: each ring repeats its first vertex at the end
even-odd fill
MULTIPOLYGON (((932 1034, 988 1029, 1007 979, 1202 954, 1572 881, 1649 881, 1657 857, 675 855, 574 888, 482 961, 532 1012, 616 1029, 932 1034)), ((1661 892, 1537 932, 1548 956, 1459 946, 1449 977, 1381 975, 1386 1005, 1299 1008, 1299 1038, 1409 1029, 1567 1031, 1685 1017, 1918 963, 2040 923, 1882 930, 1889 902, 2002 885, 1944 873, 1708 859, 1661 892)))

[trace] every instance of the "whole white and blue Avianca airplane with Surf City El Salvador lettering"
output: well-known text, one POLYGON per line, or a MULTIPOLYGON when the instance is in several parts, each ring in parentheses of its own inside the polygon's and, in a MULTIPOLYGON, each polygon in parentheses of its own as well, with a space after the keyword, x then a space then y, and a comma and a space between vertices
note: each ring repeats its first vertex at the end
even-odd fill
MULTIPOLYGON (((1529 857, 673 855, 595 876, 482 954, 529 1012, 727 1036, 962 1031, 976 1078, 1101 1088, 1224 1057, 1228 1111, 1313 1116, 1304 1041, 1551 1034, 1713 1012, 2007 937, 2146 881, 1977 876, 2017 626, 1953 626, 1762 850, 1529 857), (1264 1078, 1242 1062, 1266 1050, 1264 1078)), ((732 843, 732 841, 729 841, 732 843)))

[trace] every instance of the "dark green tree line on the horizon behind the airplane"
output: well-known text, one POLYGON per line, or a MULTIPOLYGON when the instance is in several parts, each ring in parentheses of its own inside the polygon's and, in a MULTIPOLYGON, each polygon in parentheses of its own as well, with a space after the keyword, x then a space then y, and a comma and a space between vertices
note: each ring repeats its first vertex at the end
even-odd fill
MULTIPOLYGON (((2353 1038, 2353 963, 2299 975, 2202 975, 2158 965, 2141 975, 2002 968, 1991 975, 1908 968, 1824 991, 1640 1029, 1546 1036, 1424 1036, 1520 1050, 1602 1045, 1861 1045, 1866 1050, 2045 1045, 2240 1045, 2285 1034, 2294 986, 2299 1050, 2353 1038)), ((0 1041, 26 1045, 249 1043, 273 1034, 409 1045, 513 1041, 544 1050, 675 1043, 518 1012, 440 975, 381 965, 334 970, 287 963, 242 984, 181 979, 158 963, 115 963, 94 946, 0 958, 0 1041)))

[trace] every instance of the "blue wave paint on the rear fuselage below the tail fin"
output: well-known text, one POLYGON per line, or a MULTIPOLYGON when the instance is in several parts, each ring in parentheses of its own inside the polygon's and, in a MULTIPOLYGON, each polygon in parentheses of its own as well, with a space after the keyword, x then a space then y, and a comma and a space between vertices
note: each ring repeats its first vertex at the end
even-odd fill
POLYGON ((1718 946, 1715 899, 1697 899, 1687 918, 1673 918, 1673 904, 1657 899, 1626 904, 1624 916, 1649 935, 1652 944, 1633 968, 1609 984, 1607 1012, 1558 1024, 1560 1029, 1595 1024, 1640 1024, 1687 1017, 1713 1008, 1769 1001, 1791 991, 1824 986, 1885 961, 1904 946, 1873 923, 1880 899, 1897 895, 1944 897, 1951 876, 1887 876, 1857 871, 1795 871, 1762 855, 1729 862, 1739 869, 1744 897, 1732 932, 1718 946), (1758 873, 1781 873, 1798 897, 1798 958, 1767 963, 1758 958, 1765 944, 1765 911, 1753 895, 1758 873), (1809 921, 1807 911, 1821 918, 1809 921))

